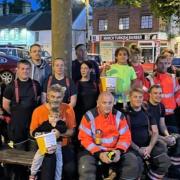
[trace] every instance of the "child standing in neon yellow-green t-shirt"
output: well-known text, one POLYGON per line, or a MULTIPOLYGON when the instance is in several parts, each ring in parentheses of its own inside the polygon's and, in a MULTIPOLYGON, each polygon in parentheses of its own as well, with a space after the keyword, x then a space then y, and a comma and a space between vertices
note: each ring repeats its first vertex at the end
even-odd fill
POLYGON ((102 74, 116 77, 116 92, 114 93, 116 104, 114 108, 121 110, 129 102, 129 91, 136 79, 134 69, 129 66, 129 51, 126 47, 117 48, 115 51, 115 64, 105 66, 102 74))

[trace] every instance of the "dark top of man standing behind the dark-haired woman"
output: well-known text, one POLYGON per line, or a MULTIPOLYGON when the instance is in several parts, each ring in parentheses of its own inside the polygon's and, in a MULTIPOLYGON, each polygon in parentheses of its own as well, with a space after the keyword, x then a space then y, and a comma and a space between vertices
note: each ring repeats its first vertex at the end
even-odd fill
MULTIPOLYGON (((99 72, 99 66, 95 61, 89 60, 89 62, 92 64, 93 71, 90 74, 90 78, 92 81, 99 81, 100 72, 99 72)), ((76 59, 72 61, 72 79, 76 83, 81 79, 81 63, 76 59)))

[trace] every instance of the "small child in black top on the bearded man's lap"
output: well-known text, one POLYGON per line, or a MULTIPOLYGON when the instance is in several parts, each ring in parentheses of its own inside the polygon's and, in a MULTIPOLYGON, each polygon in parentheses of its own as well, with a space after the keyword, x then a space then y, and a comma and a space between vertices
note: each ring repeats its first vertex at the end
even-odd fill
MULTIPOLYGON (((48 120, 43 122, 37 129, 35 129, 32 133, 33 136, 38 136, 43 133, 49 133, 54 132, 55 135, 59 131, 61 134, 65 133, 67 130, 66 124, 63 120, 59 119, 60 113, 59 109, 52 108, 50 109, 50 113, 48 116, 48 120)), ((62 176, 62 151, 61 151, 61 139, 57 139, 57 147, 56 147, 56 173, 55 173, 55 180, 61 180, 62 176)), ((29 180, 35 180, 37 179, 37 172, 39 171, 39 168, 42 165, 44 159, 44 155, 40 153, 38 150, 34 156, 32 166, 31 166, 31 175, 29 177, 29 180)))

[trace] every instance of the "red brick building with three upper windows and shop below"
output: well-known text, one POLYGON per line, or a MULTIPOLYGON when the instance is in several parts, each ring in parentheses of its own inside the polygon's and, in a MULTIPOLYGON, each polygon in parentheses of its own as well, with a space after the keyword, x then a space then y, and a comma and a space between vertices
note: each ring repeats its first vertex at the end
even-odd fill
POLYGON ((167 47, 167 25, 152 15, 147 5, 141 8, 111 5, 93 10, 92 50, 104 61, 114 59, 119 46, 137 44, 147 61, 154 61, 161 48, 167 47))

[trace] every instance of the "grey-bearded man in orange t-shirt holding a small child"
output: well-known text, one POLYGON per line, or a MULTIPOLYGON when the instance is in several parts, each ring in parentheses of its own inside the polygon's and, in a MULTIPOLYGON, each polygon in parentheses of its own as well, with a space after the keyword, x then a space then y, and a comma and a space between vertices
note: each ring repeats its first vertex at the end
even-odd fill
MULTIPOLYGON (((60 119, 64 120, 67 126, 66 133, 61 134, 57 131, 59 137, 62 137, 63 176, 66 180, 73 180, 75 176, 75 154, 70 141, 74 134, 76 122, 73 109, 68 104, 62 103, 63 92, 64 88, 58 84, 48 88, 47 102, 33 112, 30 133, 32 134, 35 129, 48 119, 50 108, 59 108, 60 119)), ((52 151, 50 149, 49 154, 45 154, 41 173, 41 179, 43 180, 54 180, 56 157, 52 151)))

